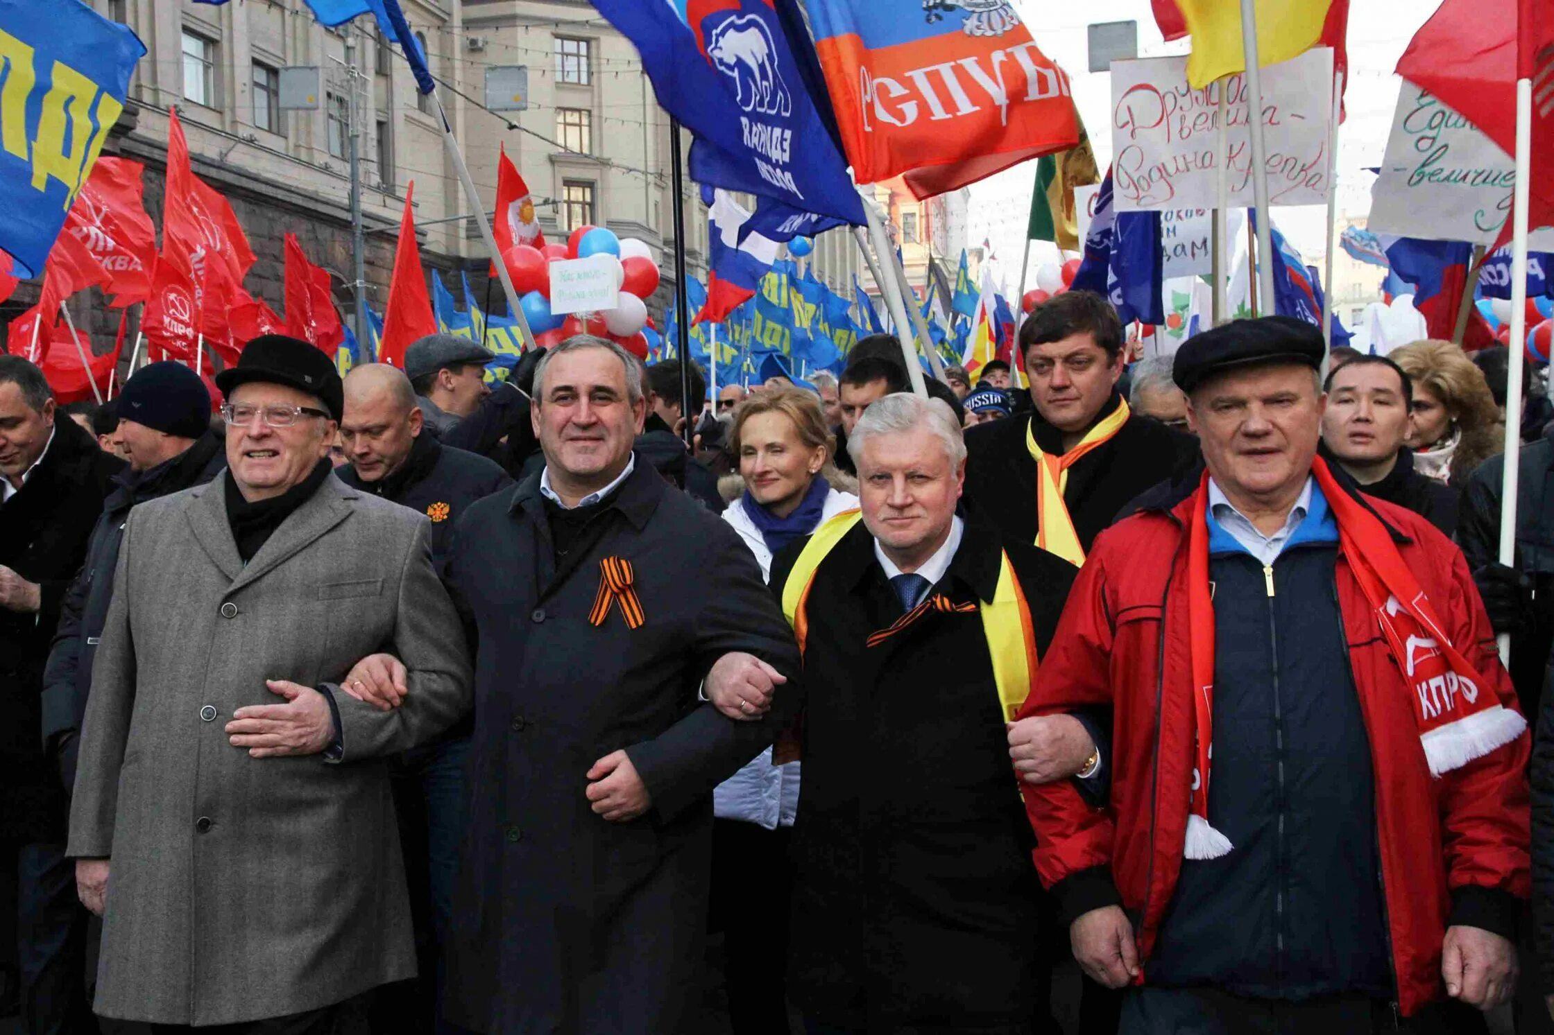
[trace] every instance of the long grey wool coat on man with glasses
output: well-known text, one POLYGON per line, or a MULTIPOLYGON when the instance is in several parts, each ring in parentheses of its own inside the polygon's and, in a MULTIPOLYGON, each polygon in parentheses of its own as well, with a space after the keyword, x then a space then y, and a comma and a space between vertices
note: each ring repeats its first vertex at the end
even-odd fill
POLYGON ((110 858, 95 1009, 232 1024, 415 974, 385 756, 468 714, 427 521, 329 476, 247 565, 224 478, 135 507, 96 652, 68 853, 110 858), (252 759, 224 732, 266 678, 339 681, 393 650, 409 695, 334 692, 343 757, 252 759))

